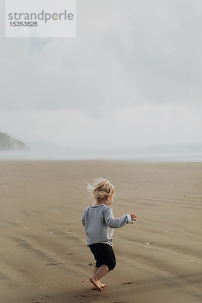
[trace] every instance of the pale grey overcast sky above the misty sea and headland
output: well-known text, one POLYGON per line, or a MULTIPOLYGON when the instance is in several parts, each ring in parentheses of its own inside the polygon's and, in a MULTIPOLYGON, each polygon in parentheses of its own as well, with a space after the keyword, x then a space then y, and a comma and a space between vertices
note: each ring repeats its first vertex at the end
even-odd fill
POLYGON ((77 0, 76 38, 5 38, 0 132, 28 145, 202 143, 201 0, 77 0))

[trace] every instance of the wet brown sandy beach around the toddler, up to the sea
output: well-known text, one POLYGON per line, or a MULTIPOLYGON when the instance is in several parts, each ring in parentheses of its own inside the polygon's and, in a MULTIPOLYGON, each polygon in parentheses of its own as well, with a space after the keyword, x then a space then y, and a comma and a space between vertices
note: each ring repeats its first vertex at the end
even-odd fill
POLYGON ((1 303, 202 302, 202 163, 1 161, 1 303), (93 178, 115 185, 116 268, 92 290, 81 224, 93 178))

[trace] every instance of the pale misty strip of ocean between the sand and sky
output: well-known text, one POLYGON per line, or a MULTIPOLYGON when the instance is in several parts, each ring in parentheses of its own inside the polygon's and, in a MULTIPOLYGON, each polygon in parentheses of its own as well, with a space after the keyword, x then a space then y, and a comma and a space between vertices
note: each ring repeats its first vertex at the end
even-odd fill
POLYGON ((202 144, 136 148, 31 148, 0 151, 0 160, 128 160, 138 162, 202 162, 202 144))

